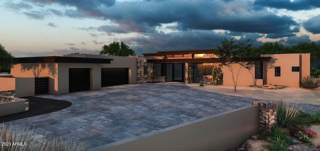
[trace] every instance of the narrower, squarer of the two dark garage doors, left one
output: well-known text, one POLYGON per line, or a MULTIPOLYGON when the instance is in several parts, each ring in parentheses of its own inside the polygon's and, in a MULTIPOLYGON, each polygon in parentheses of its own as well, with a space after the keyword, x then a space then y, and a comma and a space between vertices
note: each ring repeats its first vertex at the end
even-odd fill
POLYGON ((69 92, 90 90, 90 69, 69 68, 69 92))

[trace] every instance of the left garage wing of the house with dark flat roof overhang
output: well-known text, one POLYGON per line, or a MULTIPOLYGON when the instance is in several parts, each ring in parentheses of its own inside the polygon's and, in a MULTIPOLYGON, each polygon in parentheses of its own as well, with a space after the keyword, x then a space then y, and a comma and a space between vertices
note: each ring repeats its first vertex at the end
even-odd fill
POLYGON ((17 58, 11 69, 17 97, 65 94, 136 83, 136 58, 74 54, 17 58), (46 78, 43 78, 46 77, 46 78))

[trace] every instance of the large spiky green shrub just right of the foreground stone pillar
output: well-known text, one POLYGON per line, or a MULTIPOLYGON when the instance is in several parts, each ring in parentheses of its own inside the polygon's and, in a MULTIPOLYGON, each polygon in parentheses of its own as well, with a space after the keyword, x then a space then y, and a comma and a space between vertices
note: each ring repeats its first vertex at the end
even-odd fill
POLYGON ((308 116, 297 105, 287 102, 284 106, 281 100, 277 101, 276 108, 276 124, 278 127, 286 128, 293 132, 310 126, 308 116))

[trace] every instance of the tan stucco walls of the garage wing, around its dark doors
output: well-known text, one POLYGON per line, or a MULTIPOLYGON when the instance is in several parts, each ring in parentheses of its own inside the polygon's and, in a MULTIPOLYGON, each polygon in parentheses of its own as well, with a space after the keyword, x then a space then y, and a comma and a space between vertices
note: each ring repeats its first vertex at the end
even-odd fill
MULTIPOLYGON (((90 90, 101 88, 101 68, 128 68, 128 83, 136 83, 136 58, 119 57, 119 56, 102 56, 102 55, 60 55, 67 57, 84 57, 84 58, 102 58, 113 59, 110 64, 101 63, 20 63, 14 65, 11 69, 11 75, 15 78, 34 78, 49 77, 49 94, 69 93, 69 69, 70 68, 88 68, 90 69, 90 90)), ((80 75, 79 75, 80 76, 80 75)), ((29 81, 29 80, 28 80, 29 81)), ((26 91, 28 94, 23 96, 34 95, 33 86, 16 81, 16 87, 32 89, 26 91)))

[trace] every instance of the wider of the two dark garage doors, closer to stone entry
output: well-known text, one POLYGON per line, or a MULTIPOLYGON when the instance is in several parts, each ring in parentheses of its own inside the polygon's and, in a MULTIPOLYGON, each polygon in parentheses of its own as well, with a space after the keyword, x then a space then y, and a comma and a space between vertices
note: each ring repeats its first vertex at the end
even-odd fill
POLYGON ((128 68, 101 68, 101 87, 129 84, 128 68))

